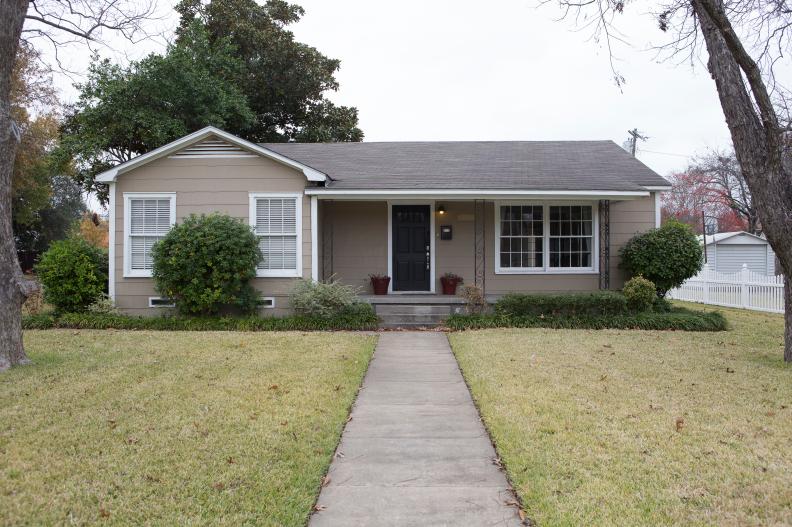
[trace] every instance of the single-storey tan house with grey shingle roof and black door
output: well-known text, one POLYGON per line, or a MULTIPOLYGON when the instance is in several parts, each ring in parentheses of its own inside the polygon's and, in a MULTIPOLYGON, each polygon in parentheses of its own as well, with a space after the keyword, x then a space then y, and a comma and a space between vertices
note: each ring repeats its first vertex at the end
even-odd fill
MULTIPOLYGON (((253 144, 204 128, 116 166, 110 295, 131 314, 168 305, 150 249, 180 218, 219 211, 261 237, 255 285, 289 310, 298 278, 389 301, 449 302, 452 272, 488 297, 619 289, 619 248, 659 225, 665 179, 611 141, 253 144)), ((384 301, 380 299, 380 301, 384 301)))

